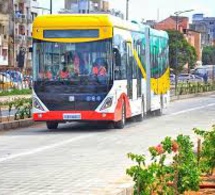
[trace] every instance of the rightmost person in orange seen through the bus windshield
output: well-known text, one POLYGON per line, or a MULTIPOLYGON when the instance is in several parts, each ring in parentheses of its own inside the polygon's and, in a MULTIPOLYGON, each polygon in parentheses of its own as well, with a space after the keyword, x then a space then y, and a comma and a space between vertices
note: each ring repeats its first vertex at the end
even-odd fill
POLYGON ((95 63, 93 64, 92 73, 95 76, 107 76, 106 71, 107 63, 104 58, 97 58, 95 63))

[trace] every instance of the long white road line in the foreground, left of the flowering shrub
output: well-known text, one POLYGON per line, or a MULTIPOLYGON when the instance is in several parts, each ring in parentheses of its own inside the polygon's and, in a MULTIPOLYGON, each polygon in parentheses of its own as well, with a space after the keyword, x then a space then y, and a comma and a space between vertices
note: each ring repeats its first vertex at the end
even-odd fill
POLYGON ((36 153, 39 153, 39 152, 44 152, 46 150, 61 147, 61 146, 64 146, 66 144, 69 144, 69 143, 72 143, 72 142, 75 142, 75 141, 79 141, 81 139, 86 139, 86 138, 89 138, 89 137, 92 137, 92 136, 95 136, 95 134, 79 136, 79 137, 75 137, 73 139, 62 141, 62 142, 59 142, 59 143, 56 143, 56 144, 36 148, 36 149, 30 150, 30 151, 27 151, 27 152, 23 152, 23 153, 19 153, 19 154, 12 154, 10 156, 0 158, 0 163, 8 161, 8 160, 15 159, 15 158, 19 158, 19 157, 29 156, 29 155, 36 154, 36 153))

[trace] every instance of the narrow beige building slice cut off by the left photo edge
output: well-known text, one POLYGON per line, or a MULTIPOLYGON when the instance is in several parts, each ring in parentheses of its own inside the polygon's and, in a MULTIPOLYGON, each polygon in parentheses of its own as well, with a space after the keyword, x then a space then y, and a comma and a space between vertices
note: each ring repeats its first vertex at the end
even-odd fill
POLYGON ((0 0, 0 67, 8 65, 9 2, 0 0))

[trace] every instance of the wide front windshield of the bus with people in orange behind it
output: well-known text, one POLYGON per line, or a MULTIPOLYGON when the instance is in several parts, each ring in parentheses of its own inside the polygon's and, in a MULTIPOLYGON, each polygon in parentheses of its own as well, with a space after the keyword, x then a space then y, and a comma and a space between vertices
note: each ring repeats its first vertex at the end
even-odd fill
MULTIPOLYGON (((34 40, 34 81, 107 83, 111 40, 60 43, 34 40), (84 78, 84 79, 83 79, 84 78)), ((81 84, 81 83, 80 83, 81 84)))

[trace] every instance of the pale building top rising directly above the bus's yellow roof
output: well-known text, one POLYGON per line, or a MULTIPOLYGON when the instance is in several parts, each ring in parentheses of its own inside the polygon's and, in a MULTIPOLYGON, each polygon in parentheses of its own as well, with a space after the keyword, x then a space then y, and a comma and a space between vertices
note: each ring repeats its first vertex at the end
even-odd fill
POLYGON ((65 10, 70 13, 108 12, 107 0, 65 0, 65 10))

